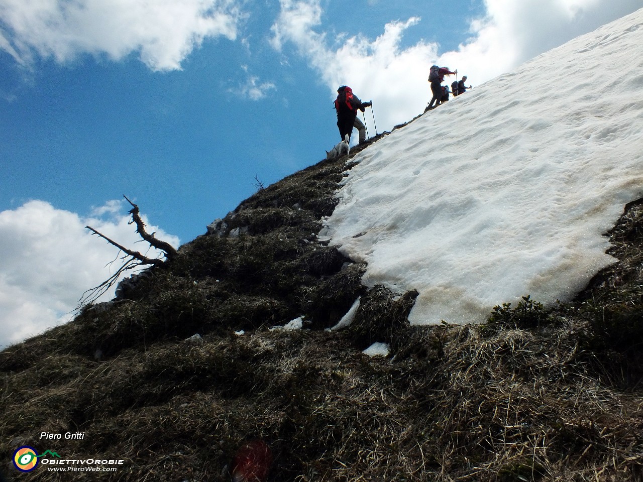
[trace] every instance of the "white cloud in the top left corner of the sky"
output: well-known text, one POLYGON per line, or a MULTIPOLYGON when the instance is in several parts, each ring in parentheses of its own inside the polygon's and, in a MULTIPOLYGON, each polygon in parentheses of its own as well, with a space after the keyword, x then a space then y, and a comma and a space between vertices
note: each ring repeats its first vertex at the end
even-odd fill
POLYGON ((237 0, 1 0, 0 49, 21 64, 138 52, 154 71, 181 61, 208 37, 237 37, 237 0))

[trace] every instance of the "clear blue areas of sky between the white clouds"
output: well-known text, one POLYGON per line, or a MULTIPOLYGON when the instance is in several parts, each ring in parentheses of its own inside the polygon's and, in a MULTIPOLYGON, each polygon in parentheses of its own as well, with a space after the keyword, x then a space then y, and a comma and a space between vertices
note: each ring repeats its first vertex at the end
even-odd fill
MULTIPOLYGON (((420 1, 355 2, 347 12, 322 4, 329 37, 374 39, 387 22, 426 12, 420 1)), ((440 22, 409 28, 401 48, 422 39, 457 48, 482 4, 460 2, 458 16, 448 4, 440 22)), ((182 70, 152 71, 136 50, 116 62, 79 50, 28 66, 1 54, 0 146, 11 170, 0 181, 0 210, 40 199, 84 214, 125 194, 186 242, 251 195, 255 175, 267 185, 321 159, 337 137, 331 91, 293 46, 269 44, 278 2, 246 9, 237 39, 204 39, 182 70), (266 84, 254 98, 253 77, 266 84)), ((390 127, 383 118, 379 129, 390 127)))

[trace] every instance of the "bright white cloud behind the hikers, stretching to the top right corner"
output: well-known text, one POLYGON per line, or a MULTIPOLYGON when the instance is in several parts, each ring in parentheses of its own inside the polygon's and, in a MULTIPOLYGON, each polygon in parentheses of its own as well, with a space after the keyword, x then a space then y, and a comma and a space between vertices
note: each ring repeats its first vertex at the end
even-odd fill
MULTIPOLYGON (((425 41, 401 47, 404 31, 419 24, 419 18, 390 22, 375 40, 340 34, 331 41, 321 25, 320 0, 280 0, 280 4, 271 30, 273 48, 282 51, 293 44, 320 73, 333 98, 337 87, 346 84, 362 100, 374 100, 379 131, 424 110, 431 98, 427 82, 431 64, 458 69, 459 75, 468 76, 468 83, 481 84, 640 8, 640 0, 485 0, 487 13, 471 21, 471 39, 457 51, 440 53, 438 44, 425 41)), ((367 121, 372 126, 368 113, 367 121)))

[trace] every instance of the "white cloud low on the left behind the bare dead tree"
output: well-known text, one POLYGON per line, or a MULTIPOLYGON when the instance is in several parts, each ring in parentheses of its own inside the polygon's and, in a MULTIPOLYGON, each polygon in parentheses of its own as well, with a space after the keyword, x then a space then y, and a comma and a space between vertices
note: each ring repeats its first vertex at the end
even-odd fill
MULTIPOLYGON (((92 236, 86 225, 141 251, 141 244, 134 245, 140 240, 136 228, 118 206, 122 204, 110 201, 89 218, 43 201, 0 212, 0 346, 69 321, 82 294, 120 267, 118 249, 92 236), (102 217, 105 214, 109 216, 102 217)), ((170 244, 179 244, 178 238, 158 227, 148 228, 170 244)), ((113 296, 111 290, 102 301, 113 296)))

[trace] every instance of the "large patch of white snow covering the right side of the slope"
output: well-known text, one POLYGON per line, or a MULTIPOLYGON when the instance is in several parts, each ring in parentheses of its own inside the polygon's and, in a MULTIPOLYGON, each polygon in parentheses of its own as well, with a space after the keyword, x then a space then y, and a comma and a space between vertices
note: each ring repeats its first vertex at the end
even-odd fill
POLYGON ((354 160, 323 233, 368 263, 366 285, 420 292, 412 323, 484 321, 526 294, 572 298, 613 262, 602 233, 643 197, 643 9, 354 160))

